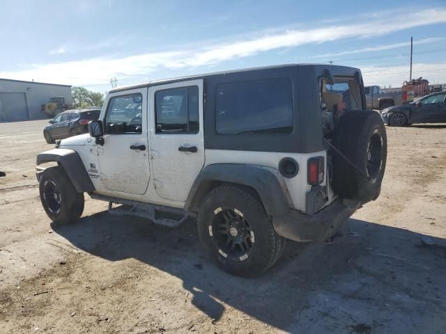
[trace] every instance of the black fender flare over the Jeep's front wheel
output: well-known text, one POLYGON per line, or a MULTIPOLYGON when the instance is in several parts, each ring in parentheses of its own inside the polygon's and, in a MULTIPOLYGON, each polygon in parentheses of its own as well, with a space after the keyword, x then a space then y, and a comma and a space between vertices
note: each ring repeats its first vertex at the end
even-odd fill
POLYGON ((78 193, 95 190, 89 173, 86 172, 82 159, 76 151, 55 148, 42 152, 38 154, 36 164, 40 165, 51 161, 56 161, 59 166, 62 166, 78 193))

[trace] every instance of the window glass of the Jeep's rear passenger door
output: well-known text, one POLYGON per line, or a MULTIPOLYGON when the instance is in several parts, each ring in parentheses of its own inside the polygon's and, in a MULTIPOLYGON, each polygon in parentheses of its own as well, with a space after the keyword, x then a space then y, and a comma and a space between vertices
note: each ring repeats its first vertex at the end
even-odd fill
POLYGON ((155 93, 155 116, 157 134, 197 134, 198 87, 158 90, 155 93))

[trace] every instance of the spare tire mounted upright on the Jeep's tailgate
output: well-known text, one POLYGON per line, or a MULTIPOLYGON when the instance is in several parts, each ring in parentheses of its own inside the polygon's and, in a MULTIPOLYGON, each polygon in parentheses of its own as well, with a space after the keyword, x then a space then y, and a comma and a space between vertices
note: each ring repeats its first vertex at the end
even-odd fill
POLYGON ((375 200, 387 159, 387 134, 376 111, 346 111, 332 136, 332 187, 341 198, 375 200))

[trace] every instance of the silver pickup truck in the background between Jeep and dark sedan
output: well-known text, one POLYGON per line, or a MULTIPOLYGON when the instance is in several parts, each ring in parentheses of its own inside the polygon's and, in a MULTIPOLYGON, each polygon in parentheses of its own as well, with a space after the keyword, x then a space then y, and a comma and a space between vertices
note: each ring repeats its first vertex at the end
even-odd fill
POLYGON ((413 102, 413 91, 401 89, 381 90, 379 86, 365 86, 367 108, 383 110, 390 106, 413 102))

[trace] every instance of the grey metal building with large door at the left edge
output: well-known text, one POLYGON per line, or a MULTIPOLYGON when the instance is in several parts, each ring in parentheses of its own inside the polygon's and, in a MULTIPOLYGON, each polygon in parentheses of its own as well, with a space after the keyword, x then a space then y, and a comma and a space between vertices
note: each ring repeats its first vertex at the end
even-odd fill
POLYGON ((48 118, 42 104, 50 97, 65 97, 72 104, 71 86, 0 79, 0 122, 48 118))

